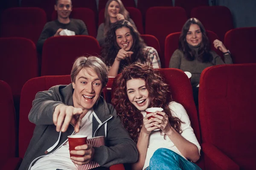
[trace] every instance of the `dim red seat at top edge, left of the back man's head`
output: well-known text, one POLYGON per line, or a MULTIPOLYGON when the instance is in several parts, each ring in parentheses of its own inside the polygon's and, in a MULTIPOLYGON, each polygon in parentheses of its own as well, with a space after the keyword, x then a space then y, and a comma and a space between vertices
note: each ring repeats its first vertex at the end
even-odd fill
POLYGON ((54 5, 55 5, 55 0, 22 0, 21 1, 21 7, 38 7, 43 9, 47 15, 47 21, 51 20, 52 11, 54 11, 54 5))

